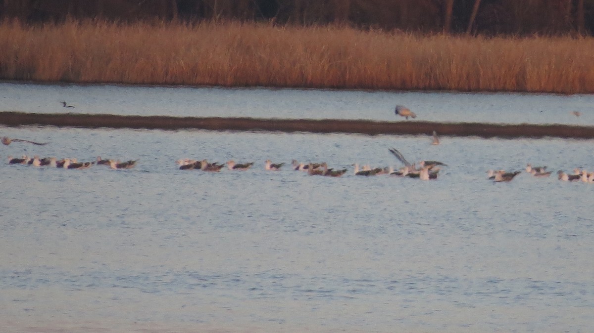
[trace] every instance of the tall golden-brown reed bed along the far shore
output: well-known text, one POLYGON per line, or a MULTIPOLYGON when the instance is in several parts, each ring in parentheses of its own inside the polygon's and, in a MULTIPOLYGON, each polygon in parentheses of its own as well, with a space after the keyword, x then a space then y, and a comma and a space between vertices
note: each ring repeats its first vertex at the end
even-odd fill
POLYGON ((0 78, 45 82, 594 92, 594 39, 419 36, 257 23, 0 23, 0 78))

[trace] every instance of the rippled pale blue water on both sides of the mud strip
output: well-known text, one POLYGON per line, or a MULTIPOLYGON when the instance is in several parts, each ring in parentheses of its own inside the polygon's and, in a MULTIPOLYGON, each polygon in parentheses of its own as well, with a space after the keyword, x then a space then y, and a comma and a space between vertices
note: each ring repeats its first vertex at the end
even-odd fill
MULTIPOLYGON (((0 110, 594 123, 590 95, 0 84, 0 110), (542 110, 542 113, 541 113, 542 110), (576 110, 582 116, 575 117, 576 110), (504 121, 508 120, 508 121, 504 121)), ((0 127, 0 324, 10 332, 589 332, 594 140, 0 127), (352 164, 448 164, 435 181, 352 164), (129 170, 8 155, 138 159, 129 170), (179 158, 255 162, 181 171, 179 158), (326 161, 341 178, 264 161, 326 161)))

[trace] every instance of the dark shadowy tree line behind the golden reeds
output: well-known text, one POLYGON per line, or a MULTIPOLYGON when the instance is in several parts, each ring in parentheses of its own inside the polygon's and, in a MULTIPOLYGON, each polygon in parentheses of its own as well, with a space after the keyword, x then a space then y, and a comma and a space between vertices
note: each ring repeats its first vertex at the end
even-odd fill
POLYGON ((422 33, 589 35, 594 0, 0 0, 0 17, 339 24, 422 33))

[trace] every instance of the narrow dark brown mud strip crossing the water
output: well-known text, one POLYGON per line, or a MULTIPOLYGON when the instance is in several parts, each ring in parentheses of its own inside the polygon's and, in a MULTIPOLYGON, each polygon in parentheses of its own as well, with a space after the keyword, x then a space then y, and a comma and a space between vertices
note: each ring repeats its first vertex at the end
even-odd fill
POLYGON ((7 126, 110 127, 128 129, 206 129, 312 133, 362 133, 368 135, 430 135, 481 137, 594 138, 594 127, 560 124, 434 123, 431 121, 369 121, 340 119, 255 119, 220 117, 118 116, 114 114, 40 114, 0 112, 7 126))

